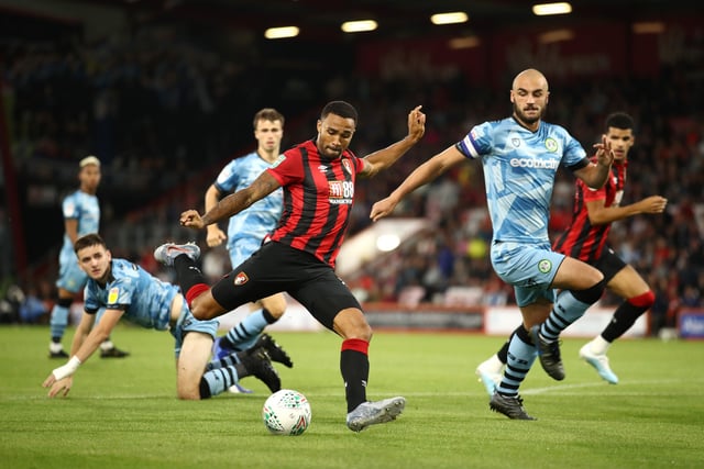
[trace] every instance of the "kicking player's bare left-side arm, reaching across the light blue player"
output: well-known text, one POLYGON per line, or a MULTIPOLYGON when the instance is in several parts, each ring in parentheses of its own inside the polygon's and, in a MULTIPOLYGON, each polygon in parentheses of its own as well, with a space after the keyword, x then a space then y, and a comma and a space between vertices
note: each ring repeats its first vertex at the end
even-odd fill
POLYGON ((280 185, 276 178, 267 171, 262 172, 250 187, 231 193, 217 203, 212 210, 200 215, 196 210, 187 210, 180 214, 180 224, 194 230, 201 230, 212 223, 240 213, 257 200, 264 199, 278 189, 280 185))

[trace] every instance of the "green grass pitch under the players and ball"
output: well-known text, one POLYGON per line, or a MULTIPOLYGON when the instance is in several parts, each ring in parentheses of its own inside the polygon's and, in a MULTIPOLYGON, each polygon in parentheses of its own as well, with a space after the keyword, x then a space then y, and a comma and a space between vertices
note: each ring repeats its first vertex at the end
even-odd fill
MULTIPOLYGON (((73 331, 70 332, 73 334, 73 331)), ((306 394, 312 423, 298 437, 261 421, 265 388, 202 402, 175 398, 170 335, 120 326, 123 360, 84 364, 66 399, 41 382, 63 364, 46 358, 45 327, 0 327, 1 468, 659 468, 704 465, 704 343, 629 339, 609 354, 618 386, 565 339, 568 378, 540 368, 522 386, 537 422, 490 412, 474 378, 499 337, 377 332, 369 398, 408 400, 398 421, 359 434, 344 425, 339 339, 330 333, 273 334, 295 368, 285 388, 306 394)))

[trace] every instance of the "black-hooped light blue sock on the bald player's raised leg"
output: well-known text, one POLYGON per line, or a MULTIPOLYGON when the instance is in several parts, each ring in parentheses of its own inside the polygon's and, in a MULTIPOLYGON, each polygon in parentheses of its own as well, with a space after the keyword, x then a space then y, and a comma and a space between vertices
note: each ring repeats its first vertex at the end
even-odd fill
POLYGON ((550 315, 540 325, 540 336, 546 342, 554 342, 570 324, 584 315, 586 310, 602 298, 604 280, 585 290, 562 290, 554 302, 550 315))

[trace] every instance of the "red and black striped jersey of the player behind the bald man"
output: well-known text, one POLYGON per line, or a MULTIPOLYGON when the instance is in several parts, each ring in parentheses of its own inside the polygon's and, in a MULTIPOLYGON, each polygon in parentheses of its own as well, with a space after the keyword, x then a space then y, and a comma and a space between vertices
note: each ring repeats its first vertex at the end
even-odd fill
POLYGON ((628 161, 614 163, 612 175, 601 189, 591 189, 581 179, 576 180, 572 221, 570 226, 552 244, 553 250, 585 263, 594 261, 601 257, 612 224, 593 225, 590 222, 586 202, 603 200, 604 206, 620 204, 626 185, 627 166, 628 161))

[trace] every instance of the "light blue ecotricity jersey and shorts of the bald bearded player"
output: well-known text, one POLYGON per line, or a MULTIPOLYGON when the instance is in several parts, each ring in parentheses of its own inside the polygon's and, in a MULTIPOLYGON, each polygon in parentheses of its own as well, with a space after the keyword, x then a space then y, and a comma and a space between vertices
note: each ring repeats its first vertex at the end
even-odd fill
POLYGON ((554 301, 550 286, 564 259, 548 235, 554 177, 560 166, 586 166, 586 152, 559 125, 541 122, 531 132, 513 118, 474 126, 457 148, 482 159, 494 270, 514 286, 519 306, 539 297, 554 301))

